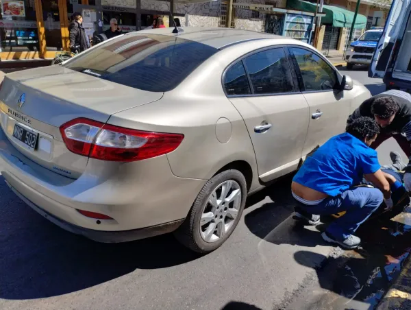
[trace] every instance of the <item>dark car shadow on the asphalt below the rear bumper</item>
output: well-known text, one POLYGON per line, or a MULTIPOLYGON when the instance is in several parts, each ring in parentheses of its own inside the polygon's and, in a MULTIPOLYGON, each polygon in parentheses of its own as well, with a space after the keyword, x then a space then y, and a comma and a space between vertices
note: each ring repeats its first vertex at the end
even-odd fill
POLYGON ((2 176, 0 197, 0 298, 58 296, 199 258, 173 235, 108 244, 68 233, 16 198, 2 176))

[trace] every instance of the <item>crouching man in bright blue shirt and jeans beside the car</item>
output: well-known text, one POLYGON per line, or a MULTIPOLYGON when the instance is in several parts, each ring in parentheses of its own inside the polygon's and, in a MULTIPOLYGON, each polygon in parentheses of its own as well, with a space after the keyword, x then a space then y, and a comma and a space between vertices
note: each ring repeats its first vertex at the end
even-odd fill
POLYGON ((371 147, 379 134, 377 123, 369 117, 355 119, 347 132, 334 136, 308 157, 292 180, 292 196, 297 201, 295 216, 308 224, 318 224, 319 215, 346 211, 322 234, 325 241, 343 248, 357 248, 361 239, 353 235, 377 210, 383 200, 393 207, 390 184, 371 147), (354 187, 363 176, 374 184, 354 187))

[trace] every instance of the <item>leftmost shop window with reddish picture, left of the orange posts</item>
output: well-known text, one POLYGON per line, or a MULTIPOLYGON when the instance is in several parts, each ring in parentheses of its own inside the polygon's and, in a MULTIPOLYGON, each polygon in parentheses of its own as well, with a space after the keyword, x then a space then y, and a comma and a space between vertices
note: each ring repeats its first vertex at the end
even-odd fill
POLYGON ((0 0, 1 51, 38 51, 34 0, 0 0))

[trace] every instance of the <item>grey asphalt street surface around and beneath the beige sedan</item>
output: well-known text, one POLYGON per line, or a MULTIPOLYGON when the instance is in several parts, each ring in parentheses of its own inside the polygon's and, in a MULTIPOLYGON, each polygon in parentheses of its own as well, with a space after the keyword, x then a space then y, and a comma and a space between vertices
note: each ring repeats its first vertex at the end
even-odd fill
MULTIPOLYGON (((384 91, 363 69, 346 74, 384 91)), ((392 149, 379 150, 383 162, 392 149)), ((200 257, 171 235, 100 244, 66 233, 0 176, 0 309, 283 309, 339 254, 318 230, 295 229, 289 192, 286 178, 253 195, 232 237, 200 257)))

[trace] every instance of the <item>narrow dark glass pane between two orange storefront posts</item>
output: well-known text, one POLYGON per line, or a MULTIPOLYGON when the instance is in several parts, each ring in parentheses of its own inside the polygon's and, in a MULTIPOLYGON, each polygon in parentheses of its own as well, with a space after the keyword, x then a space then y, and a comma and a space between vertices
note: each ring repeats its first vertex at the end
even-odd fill
POLYGON ((62 32, 60 29, 60 13, 58 0, 42 0, 43 20, 47 51, 62 50, 62 32))

